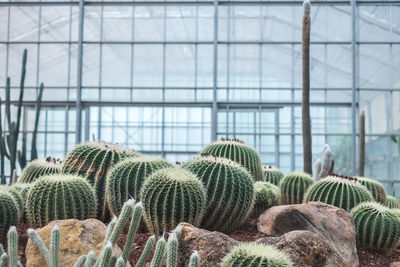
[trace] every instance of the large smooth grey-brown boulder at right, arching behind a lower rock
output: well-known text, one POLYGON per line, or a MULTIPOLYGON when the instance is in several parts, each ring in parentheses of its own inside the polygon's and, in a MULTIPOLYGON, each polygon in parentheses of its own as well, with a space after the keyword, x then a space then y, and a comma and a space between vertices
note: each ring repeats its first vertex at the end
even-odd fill
POLYGON ((258 231, 281 236, 307 230, 324 237, 343 261, 341 266, 358 266, 354 220, 345 210, 321 202, 275 206, 257 222, 258 231))

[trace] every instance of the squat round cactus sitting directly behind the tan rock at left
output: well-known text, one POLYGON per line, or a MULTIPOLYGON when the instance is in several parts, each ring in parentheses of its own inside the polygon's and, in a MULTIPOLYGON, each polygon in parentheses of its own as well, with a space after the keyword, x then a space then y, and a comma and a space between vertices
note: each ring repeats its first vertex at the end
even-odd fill
POLYGON ((82 177, 53 174, 37 180, 26 201, 28 221, 43 227, 53 220, 85 220, 96 214, 93 188, 82 177))

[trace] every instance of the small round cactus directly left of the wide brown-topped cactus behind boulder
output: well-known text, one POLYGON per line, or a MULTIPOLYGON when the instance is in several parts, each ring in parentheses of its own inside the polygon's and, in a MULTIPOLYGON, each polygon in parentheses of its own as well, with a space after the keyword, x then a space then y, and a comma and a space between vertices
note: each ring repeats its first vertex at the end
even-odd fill
POLYGON ((304 194, 313 184, 312 177, 303 172, 292 172, 286 175, 280 183, 280 204, 300 204, 303 202, 304 194))

